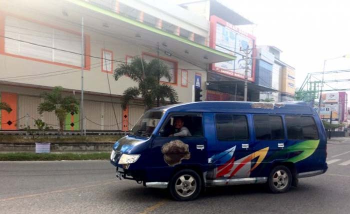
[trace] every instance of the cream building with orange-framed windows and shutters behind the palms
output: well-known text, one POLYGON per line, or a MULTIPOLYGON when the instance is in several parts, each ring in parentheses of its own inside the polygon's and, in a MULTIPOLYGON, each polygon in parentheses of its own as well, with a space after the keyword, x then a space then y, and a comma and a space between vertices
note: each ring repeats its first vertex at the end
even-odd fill
POLYGON ((205 95, 208 65, 235 59, 209 47, 210 22, 205 17, 165 2, 1 0, 0 4, 0 94, 1 101, 12 107, 10 113, 1 111, 2 130, 33 127, 37 118, 57 128, 53 112, 37 112, 40 95, 61 86, 66 95, 79 100, 81 67, 84 127, 79 114, 69 114, 65 129, 129 130, 144 107, 141 99, 135 99, 121 108, 123 91, 137 85, 127 76, 114 80, 118 65, 133 57, 159 58, 172 75, 171 81, 161 83, 176 90, 179 102, 191 102, 196 76, 203 81, 205 95))

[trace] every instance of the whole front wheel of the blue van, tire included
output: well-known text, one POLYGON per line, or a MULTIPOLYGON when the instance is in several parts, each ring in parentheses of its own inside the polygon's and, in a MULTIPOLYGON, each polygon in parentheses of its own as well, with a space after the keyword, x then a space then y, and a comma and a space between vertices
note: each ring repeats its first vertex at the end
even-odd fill
POLYGON ((201 186, 202 182, 197 172, 191 169, 182 169, 172 176, 168 185, 168 189, 170 195, 175 200, 188 201, 198 197, 201 186), (182 177, 182 180, 184 181, 181 181, 180 177, 182 177), (195 187, 193 188, 193 186, 195 187))

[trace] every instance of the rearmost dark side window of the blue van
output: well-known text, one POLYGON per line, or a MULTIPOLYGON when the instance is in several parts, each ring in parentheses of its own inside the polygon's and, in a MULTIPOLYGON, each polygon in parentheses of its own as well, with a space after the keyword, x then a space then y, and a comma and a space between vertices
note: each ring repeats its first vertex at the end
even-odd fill
POLYGON ((309 116, 285 116, 288 139, 318 139, 316 124, 309 116))

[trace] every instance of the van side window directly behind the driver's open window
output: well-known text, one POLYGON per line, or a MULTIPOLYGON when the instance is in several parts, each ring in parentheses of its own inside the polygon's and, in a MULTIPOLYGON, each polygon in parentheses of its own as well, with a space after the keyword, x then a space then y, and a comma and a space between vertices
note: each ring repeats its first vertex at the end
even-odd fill
POLYGON ((248 123, 244 115, 216 114, 216 137, 218 140, 248 140, 248 123))

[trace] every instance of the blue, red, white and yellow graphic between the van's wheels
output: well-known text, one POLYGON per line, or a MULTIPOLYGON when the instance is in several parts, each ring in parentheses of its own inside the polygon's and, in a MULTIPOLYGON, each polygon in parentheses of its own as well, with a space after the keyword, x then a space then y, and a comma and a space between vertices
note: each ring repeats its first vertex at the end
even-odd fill
POLYGON ((268 148, 269 147, 260 149, 238 160, 235 160, 235 157, 233 156, 235 146, 233 146, 232 148, 224 152, 213 155, 211 159, 216 160, 215 161, 216 163, 217 161, 223 162, 221 158, 225 160, 228 159, 226 162, 224 162, 222 165, 216 168, 215 177, 216 178, 220 178, 220 177, 231 178, 232 176, 248 177, 250 175, 250 172, 254 170, 265 158, 268 152, 268 148), (251 166, 251 160, 254 158, 257 158, 257 160, 255 164, 251 166))

